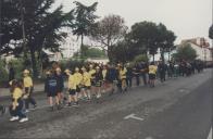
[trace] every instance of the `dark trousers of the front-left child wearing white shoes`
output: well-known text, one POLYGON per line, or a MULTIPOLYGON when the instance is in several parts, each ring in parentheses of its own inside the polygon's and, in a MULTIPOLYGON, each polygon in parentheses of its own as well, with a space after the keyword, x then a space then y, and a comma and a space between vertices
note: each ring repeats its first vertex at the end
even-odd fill
POLYGON ((23 101, 17 101, 18 105, 15 108, 15 110, 12 110, 12 105, 10 106, 10 114, 11 116, 18 116, 20 118, 26 117, 26 115, 23 113, 23 101))

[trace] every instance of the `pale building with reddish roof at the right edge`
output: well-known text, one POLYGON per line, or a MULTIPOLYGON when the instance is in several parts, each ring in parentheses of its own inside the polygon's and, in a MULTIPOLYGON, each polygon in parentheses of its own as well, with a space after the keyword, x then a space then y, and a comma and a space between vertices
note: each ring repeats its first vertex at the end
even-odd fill
POLYGON ((196 50, 198 54, 197 60, 201 60, 203 62, 213 61, 212 48, 210 48, 210 43, 205 38, 185 39, 181 40, 179 46, 183 46, 184 43, 189 43, 192 49, 196 50))

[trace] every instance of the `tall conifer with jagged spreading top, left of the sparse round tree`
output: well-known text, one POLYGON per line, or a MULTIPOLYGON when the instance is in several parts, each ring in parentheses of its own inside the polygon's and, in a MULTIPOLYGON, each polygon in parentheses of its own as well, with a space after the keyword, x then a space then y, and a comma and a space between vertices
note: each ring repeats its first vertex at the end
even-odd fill
POLYGON ((73 34, 80 37, 82 50, 82 47, 84 46, 84 37, 89 35, 92 26, 95 25, 96 18, 98 18, 98 16, 95 14, 98 2, 95 2, 89 7, 84 5, 78 1, 74 1, 74 3, 76 4, 76 8, 74 9, 75 22, 72 25, 72 28, 73 34))

